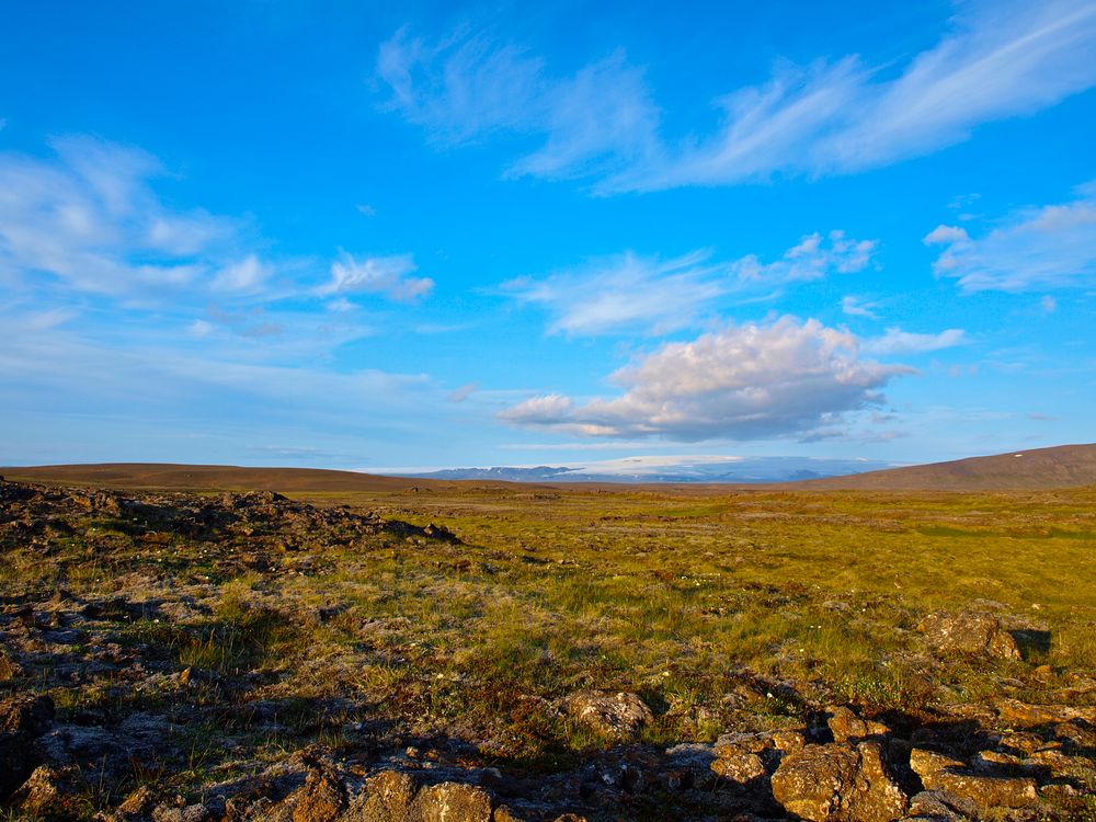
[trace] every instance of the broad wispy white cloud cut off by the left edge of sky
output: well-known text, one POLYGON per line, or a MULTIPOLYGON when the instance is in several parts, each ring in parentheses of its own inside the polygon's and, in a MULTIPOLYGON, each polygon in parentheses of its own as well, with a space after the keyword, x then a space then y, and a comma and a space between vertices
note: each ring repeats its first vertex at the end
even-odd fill
POLYGON ((167 206, 150 155, 87 137, 55 157, 0 153, 0 269, 80 292, 130 298, 183 288, 250 289, 269 272, 240 249, 241 225, 167 206))

